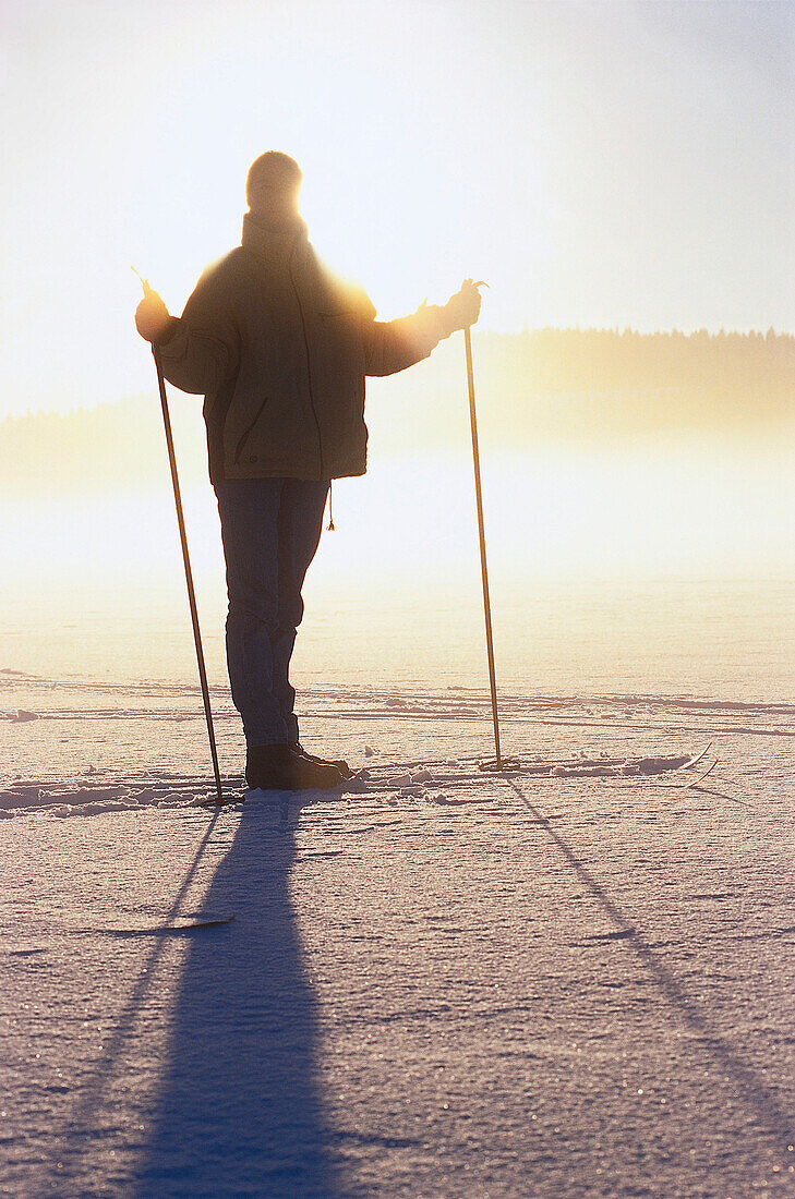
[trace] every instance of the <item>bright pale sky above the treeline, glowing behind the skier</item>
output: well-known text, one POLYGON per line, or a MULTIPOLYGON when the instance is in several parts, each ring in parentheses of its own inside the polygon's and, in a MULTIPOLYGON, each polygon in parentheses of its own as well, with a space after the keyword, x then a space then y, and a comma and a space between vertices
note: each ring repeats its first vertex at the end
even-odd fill
POLYGON ((795 330, 795 5, 2 0, 0 416, 152 390, 132 314, 265 149, 379 314, 795 330), (12 120, 8 115, 12 114, 12 120))

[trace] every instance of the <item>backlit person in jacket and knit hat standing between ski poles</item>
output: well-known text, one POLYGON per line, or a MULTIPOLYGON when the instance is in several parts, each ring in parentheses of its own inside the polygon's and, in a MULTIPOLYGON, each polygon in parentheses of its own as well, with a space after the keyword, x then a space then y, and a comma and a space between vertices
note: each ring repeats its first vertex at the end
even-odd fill
POLYGON ((474 324, 468 279, 446 305, 391 321, 319 260, 302 173, 269 151, 246 181, 242 242, 200 277, 181 318, 151 289, 135 312, 164 376, 204 394, 227 564, 227 663, 251 788, 335 788, 350 771, 301 745, 290 657, 330 481, 367 468, 365 379, 426 359, 474 324))

